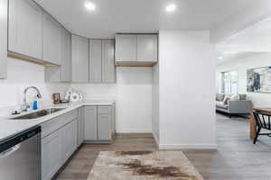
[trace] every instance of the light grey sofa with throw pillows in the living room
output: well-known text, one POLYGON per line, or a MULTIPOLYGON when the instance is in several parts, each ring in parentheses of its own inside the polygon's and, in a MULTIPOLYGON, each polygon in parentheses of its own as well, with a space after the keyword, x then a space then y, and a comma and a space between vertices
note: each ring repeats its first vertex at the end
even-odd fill
POLYGON ((216 111, 225 112, 232 115, 248 114, 251 112, 252 102, 247 100, 247 94, 238 94, 238 100, 230 100, 231 95, 216 94, 216 111), (229 98, 227 104, 224 103, 225 98, 229 98))

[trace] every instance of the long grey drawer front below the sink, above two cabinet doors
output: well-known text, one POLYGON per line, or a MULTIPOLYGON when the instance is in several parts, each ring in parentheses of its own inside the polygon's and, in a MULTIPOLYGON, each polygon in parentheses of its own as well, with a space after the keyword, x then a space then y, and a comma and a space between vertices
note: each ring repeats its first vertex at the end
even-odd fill
POLYGON ((62 126, 76 119, 78 116, 77 110, 67 112, 61 116, 42 123, 42 138, 48 136, 55 130, 59 130, 62 126))

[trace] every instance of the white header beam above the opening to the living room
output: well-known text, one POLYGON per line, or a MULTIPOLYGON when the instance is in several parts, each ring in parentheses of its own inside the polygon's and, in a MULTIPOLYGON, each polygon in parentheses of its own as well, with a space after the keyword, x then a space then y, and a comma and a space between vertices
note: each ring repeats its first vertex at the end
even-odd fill
POLYGON ((227 21, 221 22, 210 31, 211 42, 220 42, 248 26, 262 21, 271 15, 271 1, 248 1, 248 5, 238 14, 232 14, 227 21))

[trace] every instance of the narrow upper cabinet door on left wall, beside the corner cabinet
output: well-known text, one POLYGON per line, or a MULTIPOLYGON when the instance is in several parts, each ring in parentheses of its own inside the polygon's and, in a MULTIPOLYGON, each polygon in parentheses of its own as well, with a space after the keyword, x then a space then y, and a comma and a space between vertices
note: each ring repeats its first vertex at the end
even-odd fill
POLYGON ((70 32, 61 29, 61 82, 70 82, 70 32))

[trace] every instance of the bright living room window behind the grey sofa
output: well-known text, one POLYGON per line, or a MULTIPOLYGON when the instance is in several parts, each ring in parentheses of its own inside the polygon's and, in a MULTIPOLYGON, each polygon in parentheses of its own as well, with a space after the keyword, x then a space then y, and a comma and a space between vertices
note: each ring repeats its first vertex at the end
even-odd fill
POLYGON ((220 88, 222 94, 238 94, 238 71, 220 73, 220 88))

